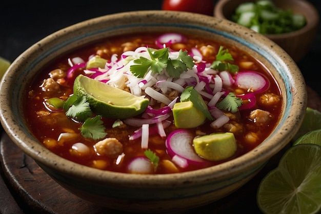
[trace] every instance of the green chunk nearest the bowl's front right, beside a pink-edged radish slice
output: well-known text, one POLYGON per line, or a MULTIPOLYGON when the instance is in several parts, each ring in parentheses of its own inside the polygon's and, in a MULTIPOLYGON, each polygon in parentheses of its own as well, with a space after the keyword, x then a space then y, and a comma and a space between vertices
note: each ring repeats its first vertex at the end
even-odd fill
POLYGON ((237 145, 234 134, 212 133, 194 138, 195 152, 209 161, 220 161, 230 158, 236 151, 237 145))

